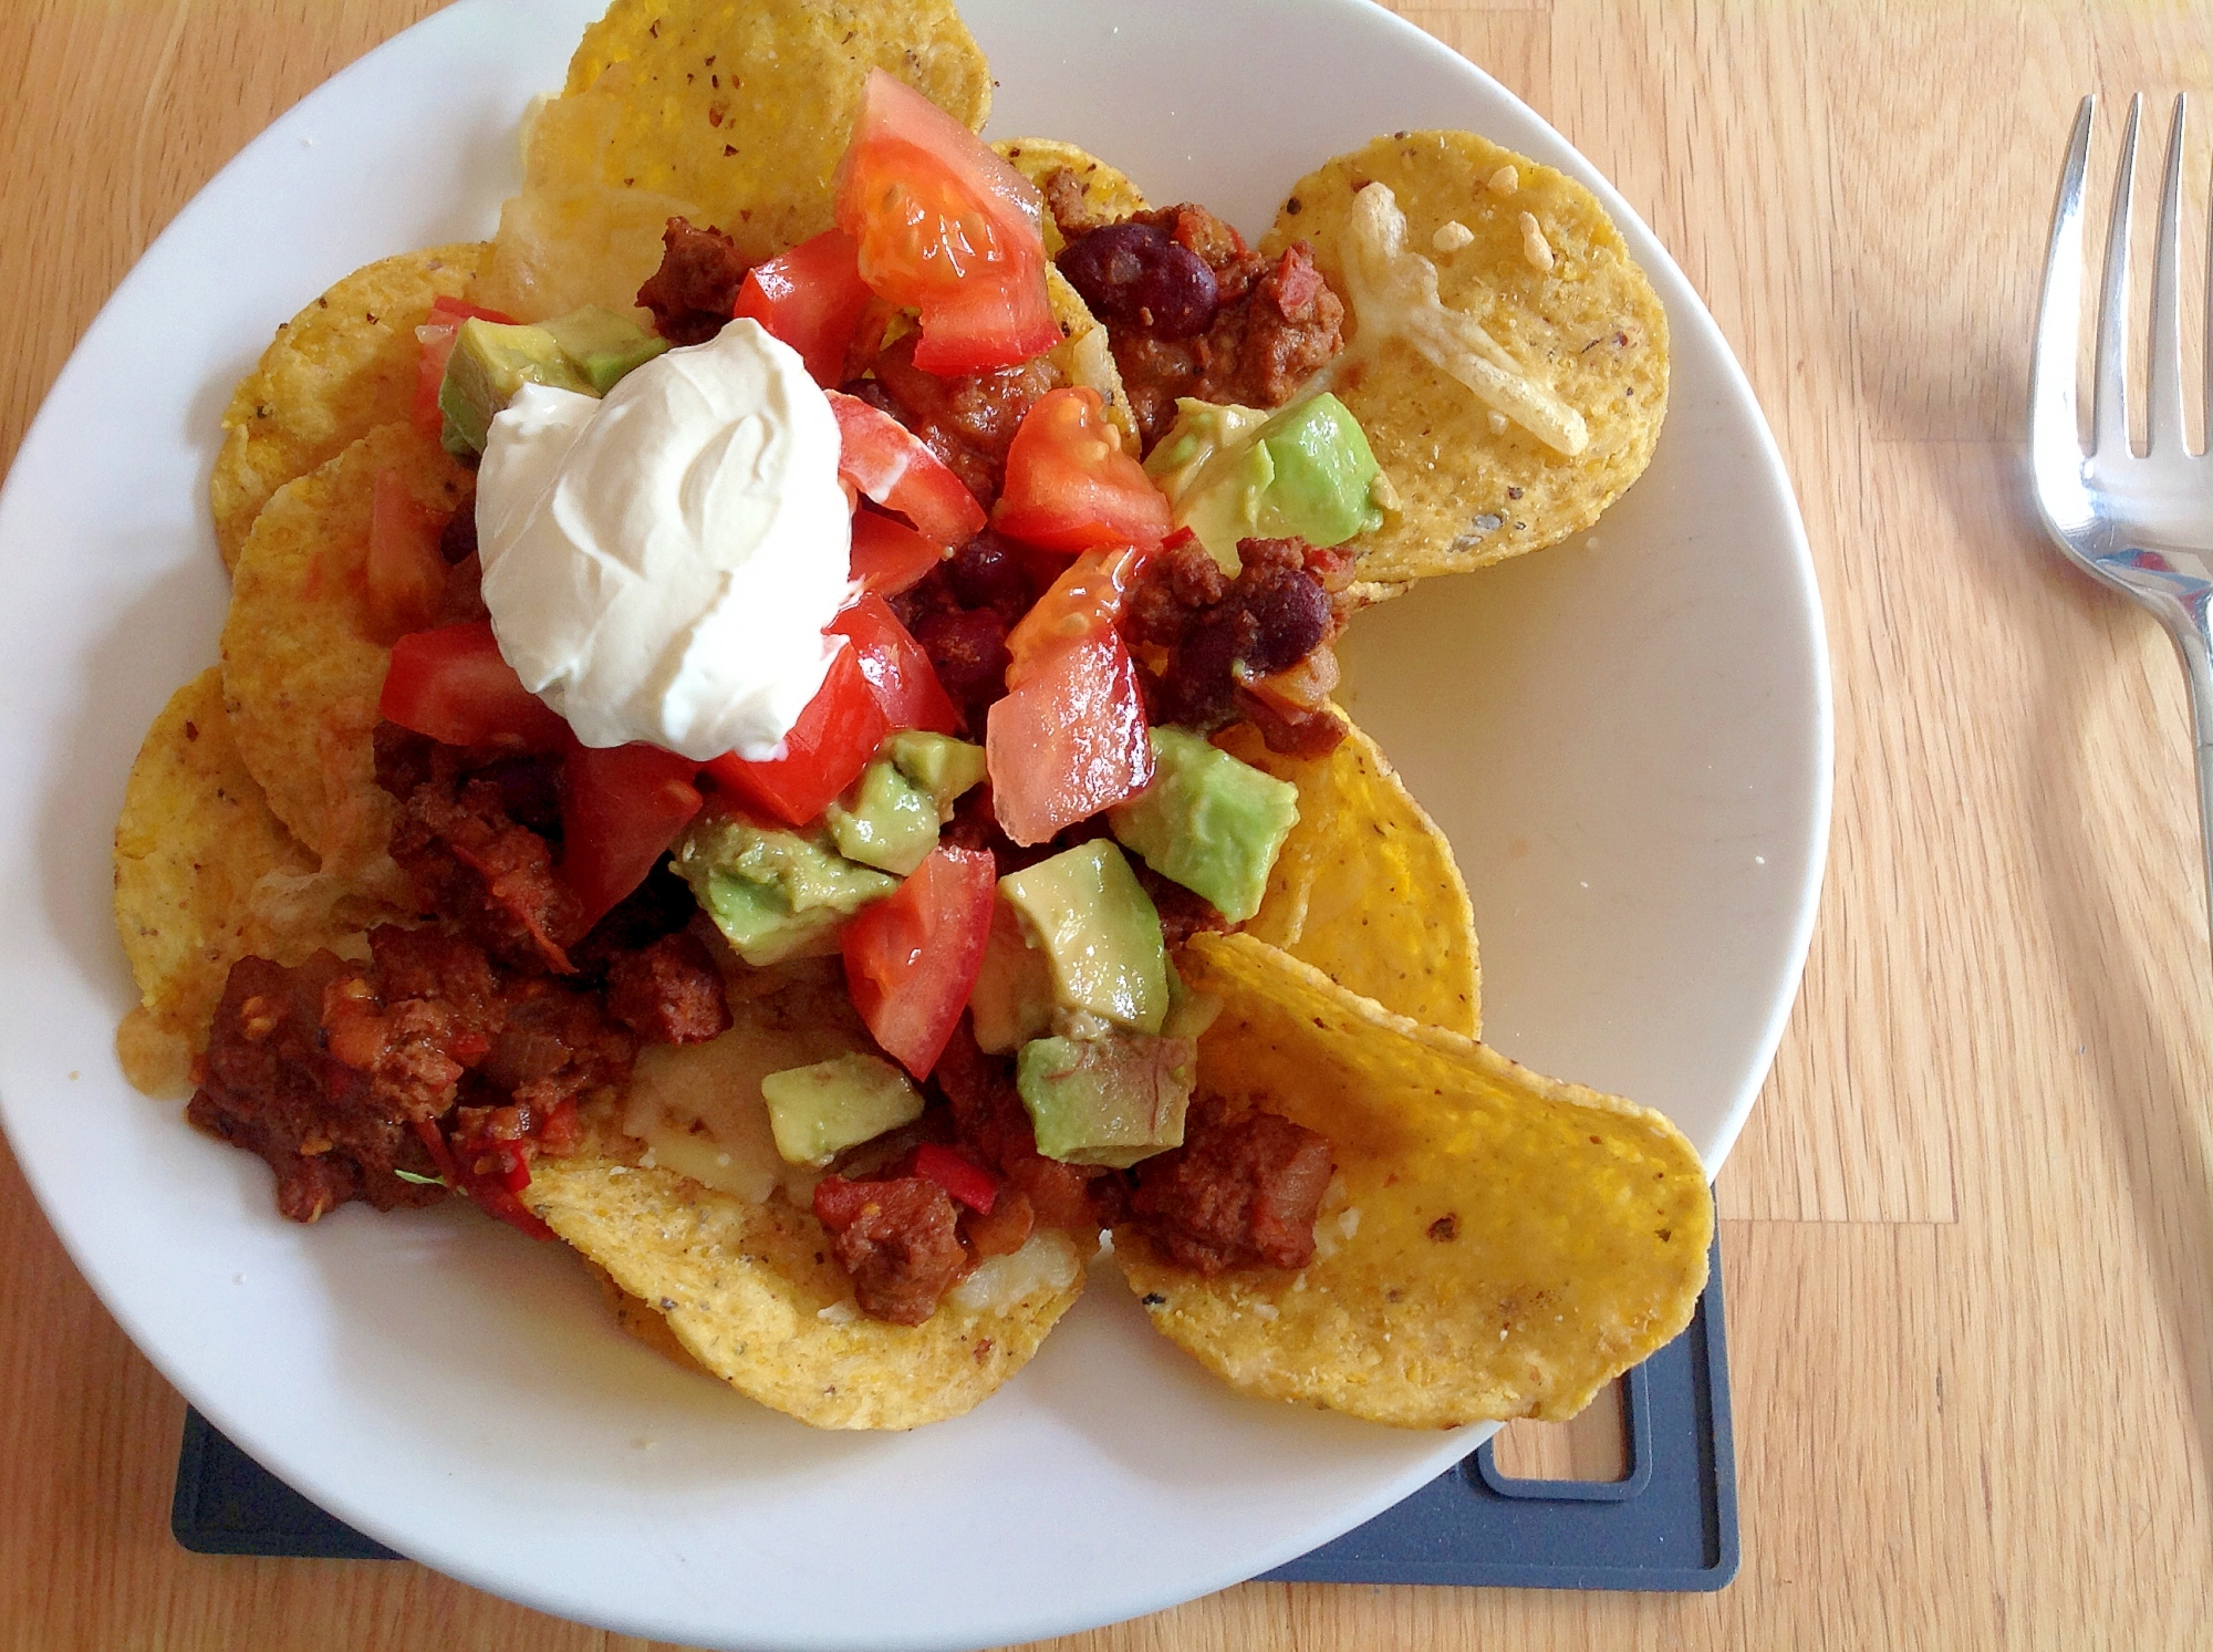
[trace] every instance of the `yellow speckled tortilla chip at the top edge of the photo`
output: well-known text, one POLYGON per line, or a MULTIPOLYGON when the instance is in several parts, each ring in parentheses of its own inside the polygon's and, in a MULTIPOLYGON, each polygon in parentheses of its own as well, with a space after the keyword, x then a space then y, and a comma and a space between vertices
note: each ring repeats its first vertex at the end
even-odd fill
POLYGON ((573 100, 613 109, 573 184, 697 202, 750 259, 830 228, 861 86, 885 69, 972 131, 991 69, 952 0, 615 0, 584 31, 573 100))

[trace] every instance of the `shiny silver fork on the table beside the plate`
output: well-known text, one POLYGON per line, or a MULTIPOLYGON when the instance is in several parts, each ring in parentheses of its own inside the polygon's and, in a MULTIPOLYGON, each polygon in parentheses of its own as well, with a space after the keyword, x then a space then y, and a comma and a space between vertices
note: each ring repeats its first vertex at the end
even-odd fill
MULTIPOLYGON (((2096 97, 2085 97, 2067 144, 2060 197, 2051 210, 2045 297, 2029 368, 2029 478, 2036 509, 2060 549, 2116 591, 2151 609, 2182 655, 2198 735, 2198 817, 2213 910, 2213 445, 2193 454, 2182 441, 2182 117, 2167 133, 2167 184, 2151 261, 2151 416, 2142 458, 2129 445, 2129 208, 2136 179, 2136 128, 2144 109, 2129 100, 2120 182, 2105 237, 2105 292, 2098 301, 2098 357, 2091 372, 2091 447, 2076 421, 2076 345, 2082 328, 2082 171, 2096 97)), ((2213 283, 2206 297, 2213 339, 2213 283)), ((2213 403, 2213 350, 2206 350, 2206 401, 2213 403)), ((2213 412, 2213 405, 2209 405, 2213 412)))

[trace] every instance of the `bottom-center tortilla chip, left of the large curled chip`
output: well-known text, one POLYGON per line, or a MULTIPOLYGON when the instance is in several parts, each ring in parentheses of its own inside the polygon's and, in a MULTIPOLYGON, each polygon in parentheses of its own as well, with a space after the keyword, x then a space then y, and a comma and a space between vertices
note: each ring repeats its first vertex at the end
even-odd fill
POLYGON ((958 1417, 1029 1364, 1084 1284, 1062 1238, 1062 1287, 1038 1284, 1005 1311, 947 1300, 916 1326, 870 1320, 812 1211, 646 1167, 635 1140, 604 1127, 578 1154, 538 1158, 522 1202, 624 1295, 657 1309, 693 1362, 817 1428, 958 1417))

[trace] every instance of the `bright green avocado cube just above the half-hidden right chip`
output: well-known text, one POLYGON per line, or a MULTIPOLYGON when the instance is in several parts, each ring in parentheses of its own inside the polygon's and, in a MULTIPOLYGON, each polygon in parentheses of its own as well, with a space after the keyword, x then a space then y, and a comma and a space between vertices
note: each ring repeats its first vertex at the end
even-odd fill
POLYGON ((1297 824, 1297 786, 1188 729, 1153 729, 1153 784, 1106 813, 1120 844, 1204 895, 1230 923, 1259 912, 1268 873, 1297 824))

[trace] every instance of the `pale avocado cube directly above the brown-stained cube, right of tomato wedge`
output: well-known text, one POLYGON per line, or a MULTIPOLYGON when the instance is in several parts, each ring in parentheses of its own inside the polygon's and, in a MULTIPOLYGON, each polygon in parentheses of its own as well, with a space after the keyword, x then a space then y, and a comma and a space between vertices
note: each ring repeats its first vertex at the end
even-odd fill
POLYGON ((998 879, 998 892, 1045 952, 1053 1001, 1118 1028, 1160 1032, 1168 1012, 1168 950, 1153 897, 1104 837, 998 879))

